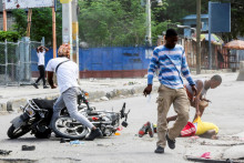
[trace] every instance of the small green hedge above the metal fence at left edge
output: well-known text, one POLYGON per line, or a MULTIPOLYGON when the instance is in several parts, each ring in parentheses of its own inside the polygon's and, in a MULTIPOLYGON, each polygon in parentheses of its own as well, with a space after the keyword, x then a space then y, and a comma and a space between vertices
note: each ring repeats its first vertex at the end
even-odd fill
POLYGON ((17 42, 20 39, 20 34, 17 31, 0 31, 0 42, 6 40, 9 42, 17 42))

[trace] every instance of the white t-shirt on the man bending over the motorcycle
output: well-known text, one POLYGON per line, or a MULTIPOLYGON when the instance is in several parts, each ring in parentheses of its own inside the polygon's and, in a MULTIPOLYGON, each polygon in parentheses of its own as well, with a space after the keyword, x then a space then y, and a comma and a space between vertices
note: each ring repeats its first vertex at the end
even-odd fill
MULTIPOLYGON (((55 72, 55 68, 58 67, 58 64, 67 60, 69 59, 68 58, 51 59, 48 62, 45 71, 55 72)), ((57 72, 57 79, 58 79, 58 85, 59 85, 61 93, 63 93, 69 88, 79 86, 78 74, 79 74, 78 64, 74 63, 73 61, 68 61, 68 62, 60 64, 60 67, 58 68, 58 72, 57 72)))

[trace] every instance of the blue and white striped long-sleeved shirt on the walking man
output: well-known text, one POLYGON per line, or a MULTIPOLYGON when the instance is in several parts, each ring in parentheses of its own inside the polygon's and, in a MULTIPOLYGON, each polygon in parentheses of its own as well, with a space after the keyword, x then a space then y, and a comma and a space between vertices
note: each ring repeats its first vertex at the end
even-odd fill
POLYGON ((189 84, 195 84, 192 80, 189 65, 186 63, 184 48, 176 44, 174 49, 164 45, 156 47, 148 70, 148 84, 152 84, 153 74, 159 69, 159 80, 161 84, 171 89, 183 88, 183 75, 189 84))

